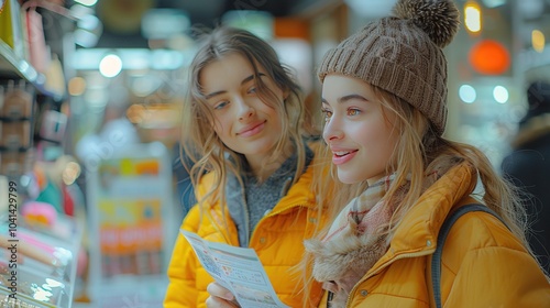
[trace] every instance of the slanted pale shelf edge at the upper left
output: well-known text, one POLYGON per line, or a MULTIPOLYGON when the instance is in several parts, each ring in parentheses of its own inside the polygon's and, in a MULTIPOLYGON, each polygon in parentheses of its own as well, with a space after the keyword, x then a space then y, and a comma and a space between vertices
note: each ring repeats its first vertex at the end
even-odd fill
POLYGON ((12 48, 2 40, 0 40, 0 76, 23 78, 33 85, 38 92, 56 100, 62 98, 62 95, 48 91, 45 88, 46 78, 44 75, 36 72, 29 62, 15 55, 12 48))

